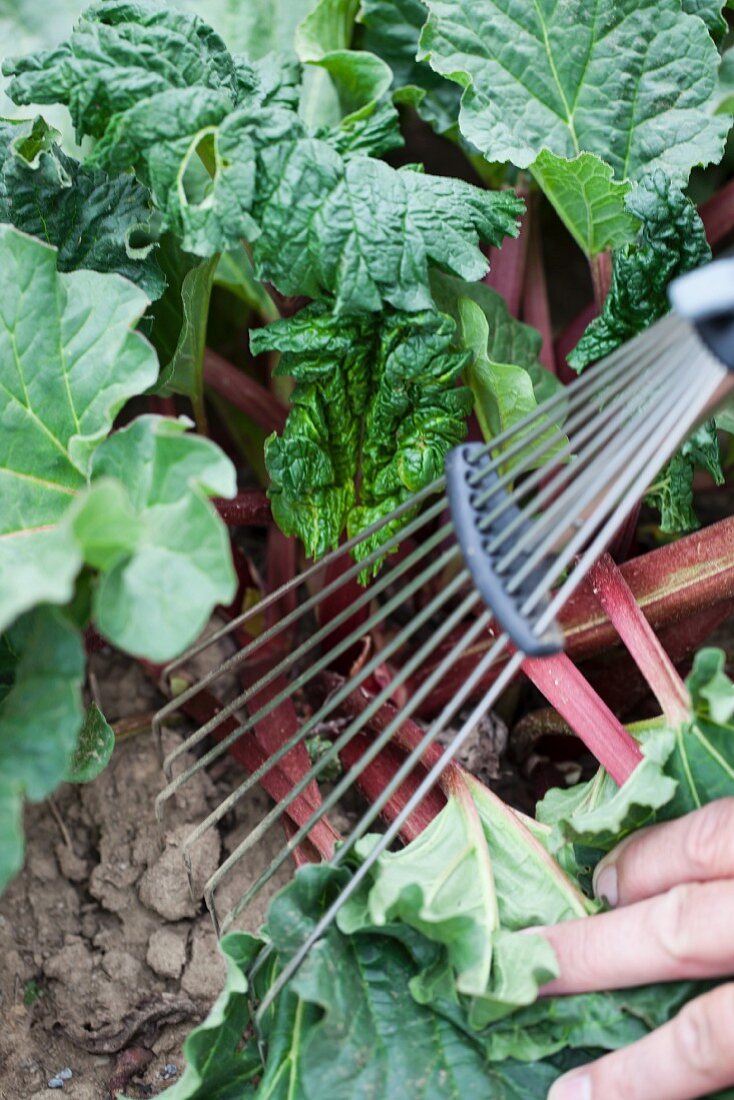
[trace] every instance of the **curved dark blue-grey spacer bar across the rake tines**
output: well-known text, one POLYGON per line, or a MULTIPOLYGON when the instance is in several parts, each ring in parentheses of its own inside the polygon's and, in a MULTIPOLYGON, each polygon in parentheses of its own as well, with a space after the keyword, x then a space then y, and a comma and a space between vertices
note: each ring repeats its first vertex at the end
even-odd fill
POLYGON ((495 487, 500 477, 486 447, 483 443, 464 443, 450 451, 446 460, 446 477, 457 540, 482 600, 517 649, 527 657, 559 653, 563 649, 563 636, 556 623, 547 626, 543 634, 536 632, 537 623, 548 606, 547 596, 534 601, 528 614, 523 612, 528 597, 548 575, 550 559, 540 561, 513 592, 507 585, 528 560, 533 547, 519 553, 506 572, 501 573, 497 569, 512 542, 532 528, 533 520, 522 519, 514 528, 512 541, 507 540, 496 553, 490 550, 491 541, 517 519, 521 509, 511 504, 497 515, 507 499, 507 493, 502 487, 495 487), (494 492, 490 494, 491 490, 494 492), (487 495, 489 501, 480 504, 481 497, 487 495))

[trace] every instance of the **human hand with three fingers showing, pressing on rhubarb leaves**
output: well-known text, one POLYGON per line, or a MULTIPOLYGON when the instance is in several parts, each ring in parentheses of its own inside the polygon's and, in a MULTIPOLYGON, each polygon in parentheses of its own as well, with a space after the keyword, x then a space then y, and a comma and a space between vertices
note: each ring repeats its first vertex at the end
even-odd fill
MULTIPOLYGON (((640 829, 594 890, 612 912, 539 931, 560 966, 544 994, 734 975, 734 799, 640 829)), ((559 1078, 548 1100, 693 1100, 734 1085, 734 982, 631 1046, 559 1078)))

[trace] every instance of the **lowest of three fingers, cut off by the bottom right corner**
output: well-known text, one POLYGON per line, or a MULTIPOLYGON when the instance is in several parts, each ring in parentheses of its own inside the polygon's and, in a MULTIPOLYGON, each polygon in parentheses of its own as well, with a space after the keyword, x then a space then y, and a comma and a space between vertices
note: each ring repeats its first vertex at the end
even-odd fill
POLYGON ((693 1100, 734 1085, 734 985, 691 1001, 675 1020, 556 1081, 548 1100, 693 1100))

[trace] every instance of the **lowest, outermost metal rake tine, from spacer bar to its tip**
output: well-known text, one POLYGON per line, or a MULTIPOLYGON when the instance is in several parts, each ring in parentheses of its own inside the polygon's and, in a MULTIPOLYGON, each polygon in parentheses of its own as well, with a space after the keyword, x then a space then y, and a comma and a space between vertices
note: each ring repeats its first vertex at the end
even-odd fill
MULTIPOLYGON (((508 640, 506 635, 503 635, 502 638, 497 639, 497 641, 492 647, 492 649, 490 650, 490 652, 486 654, 486 657, 484 658, 484 660, 481 661, 480 664, 476 667, 476 670, 475 670, 476 673, 479 673, 480 668, 481 668, 481 675, 483 675, 486 672, 486 670, 491 667, 491 664, 493 663, 493 661, 495 659, 494 650, 500 646, 500 644, 503 640, 504 640, 504 642, 506 645, 506 642, 508 640)), ((486 693, 486 695, 482 698, 481 703, 478 704, 478 706, 474 707, 474 710, 472 711, 472 714, 464 722, 464 724, 462 725, 462 727, 459 730, 459 733, 452 739, 451 744, 449 746, 447 746, 446 750, 443 751, 443 754, 441 756, 441 760, 438 761, 436 765, 434 765, 434 767, 430 769, 430 771, 428 772, 428 774, 426 776, 426 778, 419 784, 418 789, 414 792, 414 794, 407 801, 406 805, 403 807, 403 810, 399 811, 399 813, 397 814, 395 821, 390 825, 390 827, 387 828, 386 833, 384 833, 380 837, 380 839, 375 842, 375 845, 372 848, 372 850, 365 857, 365 859, 363 860, 363 862, 361 862, 360 866, 355 869, 355 871, 352 875, 352 877, 349 880, 349 882, 344 886, 344 888, 339 893, 339 897, 332 902, 332 904, 329 906, 329 909, 327 910, 327 912, 320 917, 320 920, 314 926, 313 931, 309 933, 309 935, 307 936, 307 938, 305 939, 305 942, 298 948, 298 950, 296 952, 296 954, 294 955, 294 957, 284 966, 283 970, 280 972, 280 975, 278 975, 277 979, 275 980, 275 982, 267 990, 267 993, 263 998, 263 1000, 262 1000, 262 1002, 261 1002, 261 1004, 260 1004, 260 1007, 258 1009, 258 1012, 256 1012, 256 1015, 255 1015, 255 1026, 260 1026, 261 1025, 262 1019, 263 1019, 264 1014, 267 1012, 270 1005, 273 1003, 273 1001, 275 1000, 275 998, 285 988, 285 986, 288 983, 288 981, 291 981, 291 979, 294 977, 294 975, 296 974, 296 971, 300 967, 302 963, 304 961, 304 959, 308 955, 308 953, 311 949, 311 947, 321 938, 321 936, 325 934, 325 932, 327 932, 328 928, 331 926, 331 924, 333 923, 333 921, 337 919, 337 916, 339 914, 339 911, 342 909, 342 906, 349 900, 349 898, 351 898, 352 894, 357 891, 357 889, 362 883, 362 881, 364 880, 364 878, 369 873, 370 869, 375 864, 375 861, 380 858, 380 856, 383 854, 383 851, 385 851, 385 849, 390 846, 390 844, 392 844, 392 842, 398 835, 402 826, 405 824, 405 822, 410 816, 410 814, 414 813, 414 811, 420 805, 420 803, 423 802, 423 800, 425 799, 425 796, 430 792, 430 790, 438 782, 438 780, 440 779, 441 774, 446 770, 447 766, 453 759, 453 757, 459 752, 461 746, 463 745, 463 743, 465 741, 467 737, 472 732, 472 729, 474 728, 474 726, 476 725, 476 723, 479 721, 481 721, 482 716, 486 713, 486 711, 492 705, 492 703, 502 694, 502 692, 504 691, 504 689, 511 682, 512 678, 515 675, 515 673, 519 669, 523 660, 524 660, 524 657, 523 657, 522 653, 516 653, 510 660, 510 662, 507 663, 506 668, 502 671, 502 673, 500 674, 500 676, 497 678, 497 680, 494 682, 494 684, 492 685, 492 688, 490 689, 490 691, 486 693)), ((472 685, 471 685, 472 689, 473 689, 474 683, 479 682, 479 675, 476 675, 476 678, 474 678, 474 675, 472 674, 471 679, 473 680, 472 685)), ((439 719, 437 719, 437 722, 434 724, 434 726, 437 726, 438 721, 439 719)), ((434 726, 431 726, 431 730, 434 729, 434 726)), ((429 730, 429 734, 431 733, 431 730, 429 730)), ((423 752, 425 752, 425 750, 428 747, 428 745, 431 744, 432 740, 436 739, 436 737, 438 736, 438 733, 439 733, 439 730, 436 729, 436 733, 434 734, 434 736, 432 736, 432 738, 430 740, 428 740, 428 734, 427 734, 426 738, 424 738, 424 741, 421 741, 421 747, 417 747, 410 754, 410 757, 415 757, 416 758, 415 761, 410 765, 410 770, 413 770, 413 768, 415 767, 415 763, 417 763, 419 761, 420 757, 423 756, 423 752)), ((406 761, 406 763, 407 763, 407 761, 406 761)), ((260 963, 260 958, 255 961, 254 966, 251 968, 251 971, 250 971, 251 975, 255 975, 258 972, 259 963, 260 963)))

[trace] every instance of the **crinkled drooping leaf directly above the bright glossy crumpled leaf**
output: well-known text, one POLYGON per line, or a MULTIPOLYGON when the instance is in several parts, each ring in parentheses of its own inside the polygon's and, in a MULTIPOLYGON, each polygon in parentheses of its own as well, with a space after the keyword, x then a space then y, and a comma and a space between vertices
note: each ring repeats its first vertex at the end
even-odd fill
POLYGON ((512 193, 363 156, 344 161, 311 138, 273 150, 267 173, 260 275, 284 294, 333 295, 341 314, 430 309, 429 266, 480 278, 480 242, 516 235, 522 212, 512 193))

